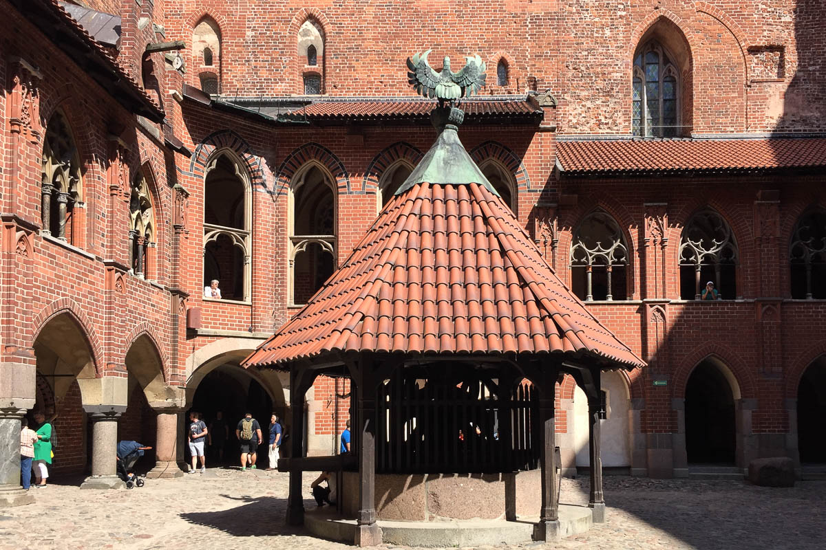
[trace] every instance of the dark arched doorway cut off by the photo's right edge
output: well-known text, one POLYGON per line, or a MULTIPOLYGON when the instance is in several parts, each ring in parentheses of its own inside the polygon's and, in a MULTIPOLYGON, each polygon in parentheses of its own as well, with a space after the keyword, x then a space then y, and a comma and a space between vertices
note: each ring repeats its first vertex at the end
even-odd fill
POLYGON ((797 389, 797 448, 801 463, 826 463, 824 408, 826 357, 821 357, 809 365, 797 389))

